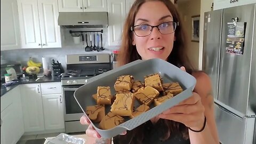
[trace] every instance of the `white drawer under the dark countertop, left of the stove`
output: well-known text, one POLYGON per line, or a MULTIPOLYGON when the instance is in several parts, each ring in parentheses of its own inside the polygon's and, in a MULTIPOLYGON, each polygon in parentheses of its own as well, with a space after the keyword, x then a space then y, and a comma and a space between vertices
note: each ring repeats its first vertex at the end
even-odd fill
POLYGON ((41 83, 42 94, 62 93, 60 82, 41 83))

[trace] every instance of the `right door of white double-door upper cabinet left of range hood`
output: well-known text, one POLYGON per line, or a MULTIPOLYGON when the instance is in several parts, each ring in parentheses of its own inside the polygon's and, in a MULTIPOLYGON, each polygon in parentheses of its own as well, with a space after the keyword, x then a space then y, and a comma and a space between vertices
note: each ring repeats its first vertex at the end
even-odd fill
POLYGON ((38 0, 42 47, 61 47, 58 0, 38 0))

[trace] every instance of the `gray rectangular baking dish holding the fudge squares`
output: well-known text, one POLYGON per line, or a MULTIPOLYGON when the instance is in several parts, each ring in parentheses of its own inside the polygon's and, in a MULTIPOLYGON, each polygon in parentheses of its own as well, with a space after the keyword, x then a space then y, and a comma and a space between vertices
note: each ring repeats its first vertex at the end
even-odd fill
MULTIPOLYGON (((194 90, 196 79, 185 71, 182 71, 180 68, 175 67, 171 63, 161 59, 137 60, 122 67, 87 79, 87 83, 75 91, 74 97, 85 114, 87 106, 97 105, 97 103, 92 98, 92 94, 97 93, 98 86, 110 86, 111 94, 114 95, 114 84, 118 76, 132 75, 134 80, 140 80, 144 82, 144 76, 155 73, 161 75, 163 78, 163 83, 179 82, 183 92, 165 101, 162 103, 162 105, 157 107, 154 107, 154 104, 151 104, 148 111, 135 118, 130 119, 129 117, 124 117, 124 123, 109 130, 99 129, 99 123, 92 123, 90 120, 93 127, 101 135, 101 137, 112 138, 126 130, 134 129, 135 127, 147 122, 149 119, 157 116, 158 114, 161 114, 166 109, 169 109, 172 106, 177 105, 182 100, 189 98, 192 95, 192 91, 194 90)), ((134 107, 137 108, 138 106, 139 103, 137 100, 135 100, 134 107)), ((109 111, 110 105, 105 105, 106 114, 109 111)))

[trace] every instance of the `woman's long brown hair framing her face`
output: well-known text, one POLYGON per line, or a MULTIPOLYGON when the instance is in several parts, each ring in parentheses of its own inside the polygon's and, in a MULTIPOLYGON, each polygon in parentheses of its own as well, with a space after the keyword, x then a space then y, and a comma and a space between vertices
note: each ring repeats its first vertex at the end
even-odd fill
POLYGON ((137 0, 133 3, 129 14, 127 15, 123 29, 122 43, 117 58, 118 65, 122 66, 126 63, 141 59, 139 53, 137 52, 136 46, 132 45, 133 31, 131 31, 131 27, 134 26, 135 16, 139 11, 140 6, 143 3, 149 1, 163 2, 167 6, 167 9, 169 9, 169 11, 171 12, 173 21, 179 23, 179 26, 177 26, 174 33, 176 40, 173 43, 173 49, 167 61, 178 67, 184 66, 187 70, 189 70, 188 72, 191 72, 194 67, 191 65, 188 55, 186 53, 187 36, 183 29, 179 13, 170 0, 137 0))

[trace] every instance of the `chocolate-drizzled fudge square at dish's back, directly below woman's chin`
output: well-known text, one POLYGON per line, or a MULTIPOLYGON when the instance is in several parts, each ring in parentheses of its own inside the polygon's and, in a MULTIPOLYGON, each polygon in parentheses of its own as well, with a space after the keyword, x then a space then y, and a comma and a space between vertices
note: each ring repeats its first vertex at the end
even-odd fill
POLYGON ((145 86, 152 86, 157 91, 163 91, 161 77, 159 74, 153 74, 145 77, 145 86))

